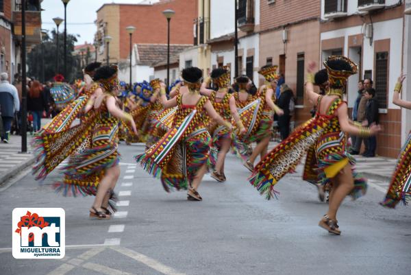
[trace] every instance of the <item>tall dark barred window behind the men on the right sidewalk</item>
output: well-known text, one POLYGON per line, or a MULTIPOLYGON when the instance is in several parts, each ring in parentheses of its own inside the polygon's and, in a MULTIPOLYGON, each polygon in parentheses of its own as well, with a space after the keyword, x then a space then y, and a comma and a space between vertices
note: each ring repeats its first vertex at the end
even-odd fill
POLYGON ((375 91, 379 108, 387 108, 388 51, 375 53, 375 91))

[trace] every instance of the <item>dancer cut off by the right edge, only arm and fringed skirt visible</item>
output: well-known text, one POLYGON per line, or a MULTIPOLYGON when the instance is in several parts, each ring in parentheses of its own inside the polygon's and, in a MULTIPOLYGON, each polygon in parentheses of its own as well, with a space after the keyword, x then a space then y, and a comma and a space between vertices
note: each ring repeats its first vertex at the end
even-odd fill
MULTIPOLYGON (((406 75, 398 77, 394 88, 393 104, 411 110, 411 101, 400 98, 402 83, 406 75)), ((397 158, 397 165, 391 178, 390 187, 386 193, 386 198, 380 204, 387 208, 395 208, 398 202, 407 204, 411 198, 411 132, 408 134, 401 152, 397 158)))

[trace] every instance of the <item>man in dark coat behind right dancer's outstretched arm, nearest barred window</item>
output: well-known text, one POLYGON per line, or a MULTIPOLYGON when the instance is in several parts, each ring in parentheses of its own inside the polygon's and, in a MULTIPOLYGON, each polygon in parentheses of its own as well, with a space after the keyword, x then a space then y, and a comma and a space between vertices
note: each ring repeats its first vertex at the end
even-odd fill
MULTIPOLYGON (((365 117, 366 120, 362 122, 364 126, 370 127, 373 124, 378 124, 378 101, 375 99, 375 89, 367 88, 364 93, 364 97, 368 99, 366 103, 365 117)), ((377 138, 375 136, 369 136, 365 139, 366 147, 368 150, 363 154, 367 158, 375 156, 375 149, 377 149, 377 138)))

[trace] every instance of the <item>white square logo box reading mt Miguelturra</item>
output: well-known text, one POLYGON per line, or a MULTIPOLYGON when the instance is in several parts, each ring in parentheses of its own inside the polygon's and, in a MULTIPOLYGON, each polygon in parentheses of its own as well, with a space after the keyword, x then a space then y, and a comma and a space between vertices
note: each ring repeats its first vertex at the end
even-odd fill
POLYGON ((64 258, 66 252, 66 213, 63 208, 14 208, 12 217, 12 252, 15 259, 64 258), (27 215, 27 211, 31 215, 37 214, 38 217, 45 217, 46 221, 49 217, 60 218, 60 226, 53 222, 49 222, 49 225, 43 228, 23 226, 21 234, 19 234, 16 232, 18 223, 21 222, 21 217, 27 215), (34 246, 29 246, 28 236, 30 233, 34 234, 34 246), (60 242, 56 240, 58 233, 60 233, 60 242), (47 246, 42 246, 43 234, 47 234, 47 241, 44 241, 47 246))

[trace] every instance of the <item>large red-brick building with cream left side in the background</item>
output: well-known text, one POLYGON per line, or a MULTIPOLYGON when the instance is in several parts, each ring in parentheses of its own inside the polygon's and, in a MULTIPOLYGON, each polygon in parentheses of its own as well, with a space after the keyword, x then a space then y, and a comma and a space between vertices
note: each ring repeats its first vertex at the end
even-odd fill
MULTIPOLYGON (((166 45, 167 21, 162 11, 171 9, 175 15, 170 24, 170 43, 172 45, 192 45, 194 34, 192 23, 197 17, 197 1, 162 0, 153 4, 104 4, 97 10, 97 60, 105 62, 107 56, 105 36, 111 36, 109 45, 110 63, 129 62, 129 34, 126 27, 136 27, 132 35, 133 45, 166 45)), ((134 48, 134 47, 133 47, 134 48)), ((134 53, 133 53, 134 54, 134 53)), ((135 58, 132 58, 135 59, 135 58)), ((155 60, 156 62, 160 60, 155 60)), ((122 65, 122 64, 121 64, 122 65)), ((133 64, 135 67, 137 64, 133 64)), ((121 75, 128 75, 127 66, 121 75)), ((133 81, 138 71, 133 72, 133 81)), ((149 75, 145 78, 148 79, 149 75)))

